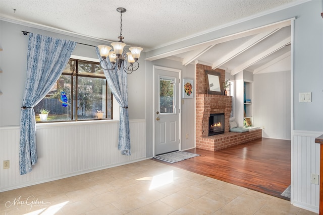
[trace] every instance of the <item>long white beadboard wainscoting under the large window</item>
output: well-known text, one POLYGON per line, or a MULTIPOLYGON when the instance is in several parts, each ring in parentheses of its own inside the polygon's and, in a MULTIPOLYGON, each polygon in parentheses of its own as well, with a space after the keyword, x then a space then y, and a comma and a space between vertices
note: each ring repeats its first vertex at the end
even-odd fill
POLYGON ((38 162, 19 175, 19 127, 0 128, 0 192, 146 159, 145 119, 130 120, 131 156, 118 151, 119 121, 37 124, 38 162))

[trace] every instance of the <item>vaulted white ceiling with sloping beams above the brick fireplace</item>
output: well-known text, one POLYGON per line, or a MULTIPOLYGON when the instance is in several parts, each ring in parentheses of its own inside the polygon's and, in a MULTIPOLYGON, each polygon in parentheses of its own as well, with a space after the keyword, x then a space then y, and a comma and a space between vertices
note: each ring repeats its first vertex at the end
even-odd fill
POLYGON ((210 65, 212 69, 222 68, 232 76, 242 70, 253 74, 287 71, 291 68, 290 24, 290 20, 287 20, 196 44, 194 47, 181 49, 181 53, 168 53, 169 56, 163 57, 177 59, 183 65, 193 62, 210 65))

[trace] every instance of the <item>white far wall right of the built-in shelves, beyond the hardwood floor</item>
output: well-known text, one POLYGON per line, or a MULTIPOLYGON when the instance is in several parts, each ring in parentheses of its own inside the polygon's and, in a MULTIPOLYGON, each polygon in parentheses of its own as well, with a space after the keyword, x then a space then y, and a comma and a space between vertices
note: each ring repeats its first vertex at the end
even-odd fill
POLYGON ((253 123, 262 126, 263 137, 291 139, 290 71, 253 77, 253 123))

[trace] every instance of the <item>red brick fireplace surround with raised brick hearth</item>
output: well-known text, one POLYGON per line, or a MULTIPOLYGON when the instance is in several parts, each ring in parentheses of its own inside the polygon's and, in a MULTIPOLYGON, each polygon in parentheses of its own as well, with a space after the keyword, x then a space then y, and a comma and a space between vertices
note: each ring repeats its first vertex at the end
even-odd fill
MULTIPOLYGON (((230 132, 232 97, 207 94, 205 70, 212 69, 210 66, 196 64, 196 148, 217 151, 261 137, 260 129, 246 133, 230 132), (209 116, 219 113, 224 113, 224 133, 209 136, 209 116)), ((220 73, 222 84, 225 81, 225 70, 218 68, 214 70, 220 73)))

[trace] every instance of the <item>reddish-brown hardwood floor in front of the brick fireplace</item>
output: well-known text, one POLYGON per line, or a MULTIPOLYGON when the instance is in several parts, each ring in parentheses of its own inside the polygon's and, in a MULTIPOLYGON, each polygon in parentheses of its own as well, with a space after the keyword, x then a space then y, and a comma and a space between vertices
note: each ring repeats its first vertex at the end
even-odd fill
POLYGON ((290 185, 290 140, 259 138, 217 152, 201 149, 186 152, 200 156, 173 164, 163 163, 290 200, 281 196, 290 185))

